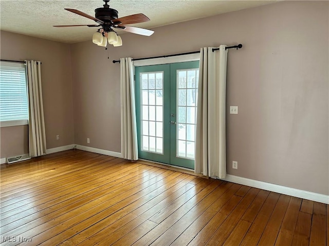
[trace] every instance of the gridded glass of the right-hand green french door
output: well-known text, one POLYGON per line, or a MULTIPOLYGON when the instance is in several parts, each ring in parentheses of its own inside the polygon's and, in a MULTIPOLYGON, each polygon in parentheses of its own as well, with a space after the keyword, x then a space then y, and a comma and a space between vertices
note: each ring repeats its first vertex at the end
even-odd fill
POLYGON ((176 156, 194 159, 198 69, 177 70, 176 156))

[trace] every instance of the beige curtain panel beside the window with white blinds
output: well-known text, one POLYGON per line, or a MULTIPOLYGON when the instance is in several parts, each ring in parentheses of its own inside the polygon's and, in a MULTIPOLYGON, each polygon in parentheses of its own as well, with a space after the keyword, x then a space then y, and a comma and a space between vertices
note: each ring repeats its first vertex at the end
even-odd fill
POLYGON ((25 60, 29 97, 29 148, 30 156, 46 153, 46 131, 43 114, 41 62, 25 60))

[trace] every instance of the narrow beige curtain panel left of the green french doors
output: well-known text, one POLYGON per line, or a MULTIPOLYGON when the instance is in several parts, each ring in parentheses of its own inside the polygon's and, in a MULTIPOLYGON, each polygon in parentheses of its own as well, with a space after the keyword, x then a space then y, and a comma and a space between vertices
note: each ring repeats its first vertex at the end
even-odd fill
POLYGON ((120 59, 121 153, 129 160, 138 159, 135 110, 134 66, 132 58, 120 59))

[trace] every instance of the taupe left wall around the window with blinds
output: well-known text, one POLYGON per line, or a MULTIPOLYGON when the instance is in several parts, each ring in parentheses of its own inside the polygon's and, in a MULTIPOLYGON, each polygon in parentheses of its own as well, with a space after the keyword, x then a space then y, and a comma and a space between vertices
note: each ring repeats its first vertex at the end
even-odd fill
MULTIPOLYGON (((1 31, 1 59, 42 62, 47 149, 74 144, 70 46, 1 31)), ((1 158, 29 153, 27 126, 2 127, 0 134, 1 158)))

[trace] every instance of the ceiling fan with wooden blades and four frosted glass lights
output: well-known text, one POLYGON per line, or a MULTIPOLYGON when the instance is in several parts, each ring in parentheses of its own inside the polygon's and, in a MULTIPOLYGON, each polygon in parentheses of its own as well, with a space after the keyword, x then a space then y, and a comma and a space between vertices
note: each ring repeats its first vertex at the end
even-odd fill
POLYGON ((122 45, 122 39, 117 35, 116 31, 114 31, 114 28, 144 36, 151 36, 154 33, 152 30, 126 26, 129 24, 148 22, 150 19, 142 13, 118 18, 118 11, 109 8, 109 5, 107 4, 109 1, 110 0, 103 0, 103 2, 105 2, 103 8, 95 9, 95 17, 77 9, 65 9, 72 13, 92 19, 98 23, 98 25, 61 25, 53 27, 100 27, 93 35, 93 43, 103 47, 106 47, 107 42, 115 47, 122 45))

